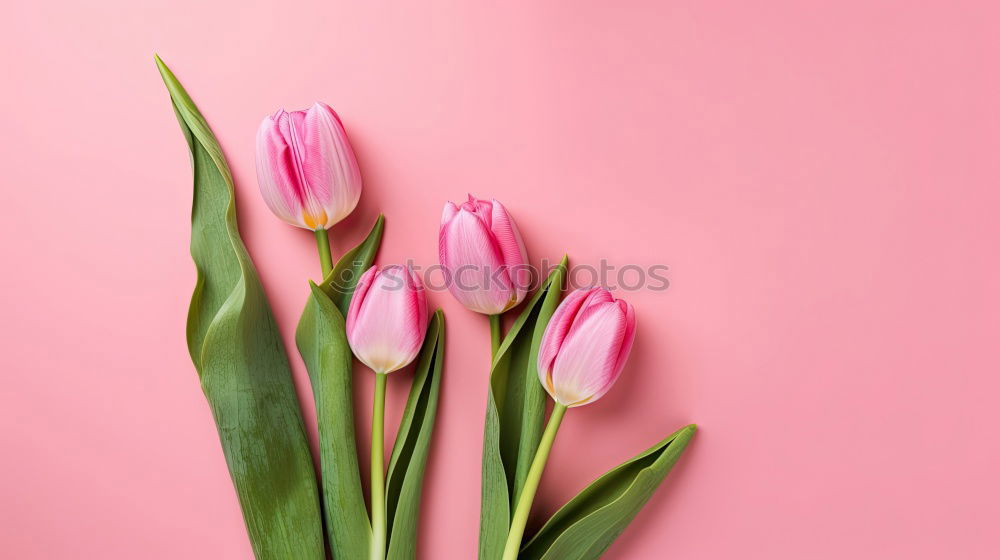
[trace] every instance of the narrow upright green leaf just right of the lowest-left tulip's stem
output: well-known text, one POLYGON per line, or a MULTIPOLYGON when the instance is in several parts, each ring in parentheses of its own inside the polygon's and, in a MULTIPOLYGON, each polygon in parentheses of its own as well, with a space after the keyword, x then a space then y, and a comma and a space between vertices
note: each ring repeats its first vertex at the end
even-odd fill
POLYGON ((386 477, 388 560, 417 557, 417 518, 427 453, 434 431, 441 370, 444 367, 444 313, 434 312, 406 401, 386 477))

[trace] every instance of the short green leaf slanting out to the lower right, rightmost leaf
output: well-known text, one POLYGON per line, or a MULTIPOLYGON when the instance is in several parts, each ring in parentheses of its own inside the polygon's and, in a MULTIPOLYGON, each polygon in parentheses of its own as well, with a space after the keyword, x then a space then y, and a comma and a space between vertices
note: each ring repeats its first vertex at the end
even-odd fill
POLYGON ((663 441, 608 471, 552 516, 519 560, 595 560, 646 505, 694 436, 697 426, 663 441))

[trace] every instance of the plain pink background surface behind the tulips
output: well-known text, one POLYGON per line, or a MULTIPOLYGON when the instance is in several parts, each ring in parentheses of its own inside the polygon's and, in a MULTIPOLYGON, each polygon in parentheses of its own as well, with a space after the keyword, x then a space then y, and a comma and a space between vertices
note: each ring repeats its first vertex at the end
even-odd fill
MULTIPOLYGON (((606 558, 997 558, 998 18, 986 1, 8 5, 2 555, 250 555, 184 345, 191 172, 156 51, 226 149, 290 347, 318 264, 257 193, 254 132, 278 107, 324 100, 348 126, 366 190, 338 254, 381 210, 380 262, 434 264, 442 204, 471 191, 505 202, 535 262, 670 267, 669 290, 627 294, 630 365, 570 414, 536 522, 698 422, 606 558)), ((431 303, 450 339, 420 549, 466 560, 487 324, 431 303)))

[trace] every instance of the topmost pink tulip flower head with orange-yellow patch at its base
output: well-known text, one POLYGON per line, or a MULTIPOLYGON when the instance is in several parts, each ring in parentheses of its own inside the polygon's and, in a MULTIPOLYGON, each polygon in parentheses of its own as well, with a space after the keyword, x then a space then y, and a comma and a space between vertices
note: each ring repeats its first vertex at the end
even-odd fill
POLYGON ((344 219, 361 197, 361 171, 347 133, 323 103, 264 118, 257 131, 257 181, 272 212, 315 231, 344 219))

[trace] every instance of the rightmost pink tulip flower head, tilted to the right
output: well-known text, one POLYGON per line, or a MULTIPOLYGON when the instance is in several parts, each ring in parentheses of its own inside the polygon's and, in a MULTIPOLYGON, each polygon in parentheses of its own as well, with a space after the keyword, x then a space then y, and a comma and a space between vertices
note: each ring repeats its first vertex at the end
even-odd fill
POLYGON ((563 406, 592 403, 618 380, 634 339, 631 305, 603 288, 576 290, 545 327, 538 377, 563 406))

